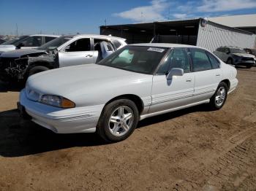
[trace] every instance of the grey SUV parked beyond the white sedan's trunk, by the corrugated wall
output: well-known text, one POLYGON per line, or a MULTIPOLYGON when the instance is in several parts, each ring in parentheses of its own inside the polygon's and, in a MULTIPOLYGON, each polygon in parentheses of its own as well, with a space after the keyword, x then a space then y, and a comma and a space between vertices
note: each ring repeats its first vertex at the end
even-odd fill
POLYGON ((214 51, 225 63, 235 66, 246 66, 247 69, 255 65, 255 56, 248 54, 244 49, 239 47, 219 47, 214 51))

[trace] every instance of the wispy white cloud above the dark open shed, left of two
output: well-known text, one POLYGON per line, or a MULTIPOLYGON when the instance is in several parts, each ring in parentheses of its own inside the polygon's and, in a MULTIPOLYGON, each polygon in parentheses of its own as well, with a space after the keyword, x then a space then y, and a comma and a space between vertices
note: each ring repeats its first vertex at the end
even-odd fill
POLYGON ((114 13, 114 16, 135 20, 137 22, 148 22, 155 20, 165 20, 162 15, 170 4, 166 0, 153 0, 151 5, 135 7, 124 12, 114 13))

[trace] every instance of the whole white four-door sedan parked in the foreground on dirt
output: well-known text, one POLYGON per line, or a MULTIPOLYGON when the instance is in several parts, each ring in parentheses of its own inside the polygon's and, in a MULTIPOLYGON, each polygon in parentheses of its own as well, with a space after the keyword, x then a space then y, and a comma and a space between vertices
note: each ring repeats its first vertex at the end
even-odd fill
POLYGON ((132 44, 97 64, 29 77, 18 109, 55 133, 127 139, 139 120, 208 103, 220 109, 237 71, 207 50, 183 44, 132 44))

